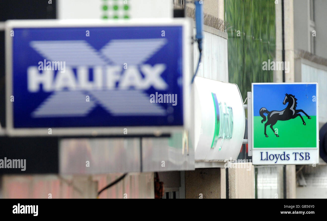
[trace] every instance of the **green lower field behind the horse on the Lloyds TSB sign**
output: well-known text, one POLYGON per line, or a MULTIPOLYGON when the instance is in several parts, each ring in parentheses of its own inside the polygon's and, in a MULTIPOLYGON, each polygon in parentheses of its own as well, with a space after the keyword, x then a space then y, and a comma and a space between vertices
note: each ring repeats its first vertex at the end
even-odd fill
POLYGON ((265 123, 261 123, 261 116, 253 116, 253 140, 254 148, 276 148, 276 147, 317 147, 317 125, 316 116, 302 116, 305 124, 303 125, 300 117, 287 121, 277 121, 273 126, 278 129, 279 137, 276 137, 269 125, 265 136, 265 123), (306 139, 303 139, 306 138, 306 139))

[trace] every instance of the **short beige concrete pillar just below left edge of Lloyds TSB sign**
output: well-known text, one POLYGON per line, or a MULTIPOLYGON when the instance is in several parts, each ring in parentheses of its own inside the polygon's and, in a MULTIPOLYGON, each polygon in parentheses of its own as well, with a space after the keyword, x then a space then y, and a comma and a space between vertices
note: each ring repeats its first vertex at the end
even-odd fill
POLYGON ((252 163, 232 163, 228 169, 230 199, 254 199, 254 166, 252 163))

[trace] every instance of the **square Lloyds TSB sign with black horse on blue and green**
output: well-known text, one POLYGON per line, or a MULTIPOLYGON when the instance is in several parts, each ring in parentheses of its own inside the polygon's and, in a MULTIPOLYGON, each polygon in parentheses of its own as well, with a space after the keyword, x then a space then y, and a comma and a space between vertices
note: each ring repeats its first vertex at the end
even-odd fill
POLYGON ((318 83, 252 83, 254 165, 318 164, 318 83))

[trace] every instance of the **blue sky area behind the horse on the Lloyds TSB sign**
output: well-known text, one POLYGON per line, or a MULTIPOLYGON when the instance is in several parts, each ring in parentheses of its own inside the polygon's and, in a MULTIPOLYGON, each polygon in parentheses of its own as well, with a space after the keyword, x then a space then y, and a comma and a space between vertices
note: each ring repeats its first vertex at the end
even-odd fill
MULTIPOLYGON (((316 115, 317 102, 312 96, 316 95, 316 84, 254 84, 253 85, 253 111, 254 116, 260 116, 259 111, 265 107, 268 111, 282 111, 285 93, 297 98, 296 109, 302 109, 309 116, 316 115)), ((301 113, 301 115, 304 115, 301 113)))

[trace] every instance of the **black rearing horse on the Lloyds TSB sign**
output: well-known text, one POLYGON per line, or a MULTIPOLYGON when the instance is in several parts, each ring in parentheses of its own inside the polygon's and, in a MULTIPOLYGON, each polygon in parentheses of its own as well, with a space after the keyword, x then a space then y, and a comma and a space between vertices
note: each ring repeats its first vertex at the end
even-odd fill
POLYGON ((264 113, 268 114, 268 121, 265 123, 266 137, 268 137, 268 135, 266 133, 266 127, 269 124, 270 124, 270 128, 272 129, 272 131, 274 131, 274 134, 277 137, 279 137, 278 134, 275 133, 274 128, 272 127, 273 125, 275 125, 277 123, 277 121, 288 121, 289 119, 294 119, 297 116, 300 116, 303 121, 303 125, 305 125, 303 117, 301 116, 301 114, 299 114, 300 112, 304 113, 305 116, 308 117, 308 119, 311 119, 311 117, 308 114, 306 114, 303 110, 301 110, 301 109, 295 110, 296 105, 297 105, 297 102, 296 102, 297 100, 298 99, 296 99, 294 95, 285 94, 283 104, 285 105, 288 102, 288 105, 283 111, 268 111, 266 108, 260 109, 260 116, 263 118, 261 123, 264 123, 266 121, 266 116, 264 115, 264 113))

